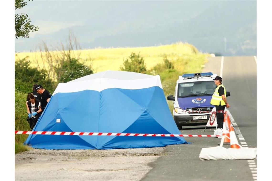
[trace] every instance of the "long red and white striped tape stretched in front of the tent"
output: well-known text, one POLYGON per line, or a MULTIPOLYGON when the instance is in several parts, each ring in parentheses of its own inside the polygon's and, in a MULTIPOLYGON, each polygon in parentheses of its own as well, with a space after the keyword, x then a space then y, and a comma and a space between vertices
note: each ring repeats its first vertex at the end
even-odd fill
POLYGON ((178 134, 139 134, 139 133, 98 133, 66 131, 15 131, 24 135, 78 135, 78 136, 162 136, 162 137, 219 137, 221 135, 178 135, 178 134))

